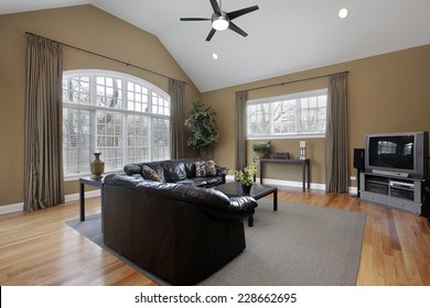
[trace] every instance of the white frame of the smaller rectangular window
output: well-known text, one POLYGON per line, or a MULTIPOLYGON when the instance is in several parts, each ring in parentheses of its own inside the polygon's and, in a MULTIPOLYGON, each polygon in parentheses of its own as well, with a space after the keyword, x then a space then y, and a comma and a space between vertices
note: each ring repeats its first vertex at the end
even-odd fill
MULTIPOLYGON (((279 101, 286 101, 286 100, 299 100, 301 98, 310 98, 310 97, 316 97, 316 96, 327 96, 327 88, 318 89, 318 90, 310 90, 310 91, 303 91, 303 92, 297 92, 286 96, 277 96, 277 97, 268 97, 268 98, 260 98, 260 99, 252 99, 248 100, 246 102, 247 109, 246 109, 246 133, 247 140, 270 140, 270 139, 303 139, 303 138, 325 138, 325 131, 326 128, 324 128, 324 131, 320 132, 292 132, 292 133, 275 133, 273 129, 273 103, 279 101), (248 107, 249 106, 256 106, 256 105, 269 105, 269 133, 268 134, 252 134, 249 130, 249 117, 248 114, 248 107)), ((300 111, 299 109, 295 110, 295 119, 298 121, 300 111)), ((326 119, 325 119, 326 120, 326 119)))

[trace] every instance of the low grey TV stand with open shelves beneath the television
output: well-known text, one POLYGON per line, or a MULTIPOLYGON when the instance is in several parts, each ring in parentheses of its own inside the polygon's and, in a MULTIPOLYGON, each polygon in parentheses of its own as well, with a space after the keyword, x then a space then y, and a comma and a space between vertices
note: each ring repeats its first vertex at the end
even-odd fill
POLYGON ((367 201, 422 213, 423 178, 409 178, 374 173, 362 173, 359 197, 367 201))

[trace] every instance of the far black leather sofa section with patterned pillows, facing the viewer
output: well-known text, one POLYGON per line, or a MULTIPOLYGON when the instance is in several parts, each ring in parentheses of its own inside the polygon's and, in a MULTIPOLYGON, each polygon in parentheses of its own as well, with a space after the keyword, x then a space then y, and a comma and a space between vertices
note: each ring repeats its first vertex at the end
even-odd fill
POLYGON ((161 162, 133 163, 127 164, 123 167, 123 170, 127 175, 139 178, 143 174, 142 168, 147 166, 157 173, 161 182, 194 185, 197 187, 212 187, 225 183, 226 168, 216 165, 214 166, 214 174, 203 176, 201 174, 201 176, 197 176, 196 163, 202 162, 207 163, 211 161, 203 158, 183 158, 161 162))

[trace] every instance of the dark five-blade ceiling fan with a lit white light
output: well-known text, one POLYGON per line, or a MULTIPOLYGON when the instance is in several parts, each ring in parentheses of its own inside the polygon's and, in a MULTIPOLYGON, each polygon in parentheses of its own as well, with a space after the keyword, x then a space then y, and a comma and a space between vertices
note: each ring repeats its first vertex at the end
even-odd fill
POLYGON ((214 9, 214 13, 212 14, 212 18, 205 19, 205 18, 181 18, 181 21, 206 21, 211 20, 212 21, 212 29, 209 34, 206 37, 206 41, 211 41, 212 36, 214 36, 216 31, 223 31, 226 30, 227 28, 229 30, 233 30, 234 32, 247 36, 248 34, 238 28, 236 24, 232 22, 235 18, 245 15, 247 13, 250 13, 252 11, 258 10, 258 6, 249 7, 246 9, 237 10, 234 12, 225 12, 221 9, 221 0, 219 0, 219 6, 216 0, 209 0, 212 8, 214 9))

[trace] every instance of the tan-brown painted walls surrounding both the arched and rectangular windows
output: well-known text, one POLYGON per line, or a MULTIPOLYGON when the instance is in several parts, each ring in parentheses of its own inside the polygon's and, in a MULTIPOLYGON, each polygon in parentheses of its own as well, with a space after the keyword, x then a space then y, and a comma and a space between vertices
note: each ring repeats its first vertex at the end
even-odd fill
MULTIPOLYGON (((159 40, 92 6, 0 15, 0 206, 23 201, 25 31, 105 54, 187 81, 186 110, 198 90, 159 40)), ((264 62, 264 58, 260 59, 264 62)), ((64 48, 64 69, 99 68, 143 78, 163 90, 168 80, 139 69, 64 48)), ((245 68, 244 68, 245 69, 245 68)), ((235 91, 348 70, 350 162, 367 133, 430 131, 430 45, 284 75, 202 95, 215 107, 221 140, 212 155, 234 167, 235 91)), ((249 92, 249 99, 286 95, 326 86, 326 78, 249 92)), ((299 140, 272 140, 275 151, 299 155, 299 140)), ((248 142, 248 158, 254 156, 248 142)), ((323 139, 307 139, 312 183, 325 183, 323 139)), ((192 151, 187 151, 193 155, 192 151)), ((351 165, 351 163, 350 163, 351 165)), ((350 166, 350 174, 355 169, 350 166)), ((268 166, 267 177, 300 180, 299 166, 268 166)), ((351 183, 355 186, 356 183, 351 183)), ((66 191, 77 193, 67 182, 66 191)))

